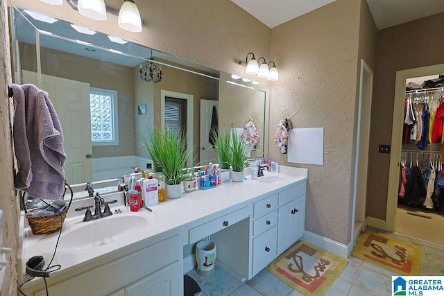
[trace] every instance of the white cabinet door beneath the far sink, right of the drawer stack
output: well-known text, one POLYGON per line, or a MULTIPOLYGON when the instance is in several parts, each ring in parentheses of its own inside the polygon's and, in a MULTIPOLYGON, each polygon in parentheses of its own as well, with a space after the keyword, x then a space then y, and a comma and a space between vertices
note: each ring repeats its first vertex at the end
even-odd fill
POLYGON ((293 200, 279 208, 278 254, 287 250, 304 234, 305 197, 293 200))

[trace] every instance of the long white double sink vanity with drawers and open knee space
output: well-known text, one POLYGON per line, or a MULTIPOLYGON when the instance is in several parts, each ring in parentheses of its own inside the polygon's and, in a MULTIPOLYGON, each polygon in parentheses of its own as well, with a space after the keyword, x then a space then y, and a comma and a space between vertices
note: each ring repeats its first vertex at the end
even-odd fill
MULTIPOLYGON (((92 200, 75 200, 52 263, 62 267, 46 279, 49 295, 182 295, 189 269, 184 270, 183 247, 209 236, 217 246, 216 264, 251 279, 302 237, 306 183, 307 169, 281 166, 281 173, 258 180, 184 193, 154 205, 152 212, 130 212, 123 193, 111 193, 102 197, 118 200, 111 208, 115 214, 89 222, 73 209, 92 200)), ((24 216, 21 221, 19 277, 32 256, 49 263, 58 238, 58 232, 34 235, 24 216)), ((46 295, 41 278, 22 290, 46 295)))

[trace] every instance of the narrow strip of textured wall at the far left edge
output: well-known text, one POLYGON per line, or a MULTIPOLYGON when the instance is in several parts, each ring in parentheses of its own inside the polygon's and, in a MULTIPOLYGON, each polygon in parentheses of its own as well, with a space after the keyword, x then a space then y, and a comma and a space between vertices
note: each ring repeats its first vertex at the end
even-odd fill
POLYGON ((3 245, 12 248, 6 256, 9 264, 3 280, 1 295, 17 295, 18 200, 15 198, 12 158, 12 99, 6 96, 11 83, 10 44, 8 28, 8 0, 0 1, 0 209, 3 210, 3 245))

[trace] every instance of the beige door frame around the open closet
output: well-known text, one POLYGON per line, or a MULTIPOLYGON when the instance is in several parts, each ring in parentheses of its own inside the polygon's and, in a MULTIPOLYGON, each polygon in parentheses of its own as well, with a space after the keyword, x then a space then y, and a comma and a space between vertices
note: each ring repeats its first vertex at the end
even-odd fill
MULTIPOLYGON (((396 73, 395 102, 393 107, 391 156, 390 156, 390 168, 388 175, 388 192, 387 192, 386 225, 385 225, 386 226, 385 229, 390 232, 395 232, 397 229, 396 224, 397 224, 397 214, 398 214, 398 190, 399 190, 398 184, 400 177, 400 159, 402 157, 402 134, 404 126, 404 97, 405 97, 406 80, 408 78, 431 76, 438 73, 444 73, 444 64, 436 64, 433 66, 407 69, 407 70, 397 71, 396 73)), ((418 234, 414 234, 413 232, 412 235, 410 236, 418 238, 418 234)), ((422 237, 421 239, 429 241, 427 237, 425 238, 422 237)))

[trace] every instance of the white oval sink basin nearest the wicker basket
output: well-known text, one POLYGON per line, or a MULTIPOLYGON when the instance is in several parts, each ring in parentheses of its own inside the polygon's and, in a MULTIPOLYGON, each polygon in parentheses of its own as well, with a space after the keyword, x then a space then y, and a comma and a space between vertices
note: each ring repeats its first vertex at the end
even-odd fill
MULTIPOLYGON (((64 225, 58 249, 79 250, 109 245, 110 243, 121 241, 128 236, 137 235, 151 220, 152 218, 149 218, 147 215, 114 214, 99 220, 76 222, 73 223, 74 227, 64 225)), ((49 250, 48 247, 50 249, 54 247, 52 240, 50 241, 49 238, 42 237, 37 242, 37 249, 42 252, 49 250)))

